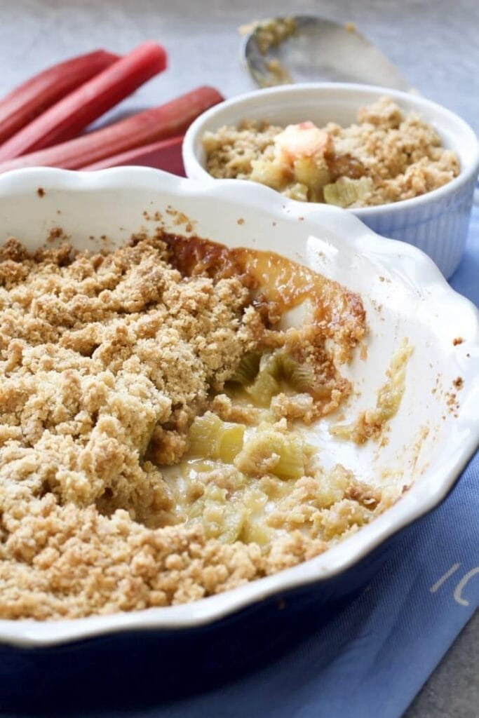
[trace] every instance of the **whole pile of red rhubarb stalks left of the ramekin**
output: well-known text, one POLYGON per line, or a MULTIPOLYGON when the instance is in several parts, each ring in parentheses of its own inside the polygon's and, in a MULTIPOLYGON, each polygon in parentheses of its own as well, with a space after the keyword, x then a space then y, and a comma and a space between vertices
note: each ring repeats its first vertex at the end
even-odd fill
POLYGON ((123 57, 97 50, 27 80, 0 100, 0 172, 19 167, 104 169, 146 164, 180 174, 185 130, 223 100, 213 88, 196 88, 81 134, 166 67, 164 49, 143 42, 123 57))

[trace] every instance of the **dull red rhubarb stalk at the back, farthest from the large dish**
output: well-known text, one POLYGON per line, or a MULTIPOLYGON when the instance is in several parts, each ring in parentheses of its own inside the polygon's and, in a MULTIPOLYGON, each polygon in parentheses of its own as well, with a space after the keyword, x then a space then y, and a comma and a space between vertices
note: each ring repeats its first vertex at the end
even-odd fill
POLYGON ((55 102, 119 60, 105 50, 88 52, 48 67, 0 100, 0 143, 55 102))

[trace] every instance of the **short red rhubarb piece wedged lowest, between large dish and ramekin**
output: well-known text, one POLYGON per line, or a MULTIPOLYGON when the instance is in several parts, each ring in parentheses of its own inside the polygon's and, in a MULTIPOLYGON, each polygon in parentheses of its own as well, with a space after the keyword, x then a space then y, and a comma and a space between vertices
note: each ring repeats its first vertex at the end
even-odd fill
POLYGON ((185 167, 181 156, 183 136, 161 139, 159 142, 152 142, 142 147, 135 147, 113 157, 105 157, 99 162, 89 164, 88 167, 80 169, 108 169, 108 167, 120 167, 121 165, 136 165, 136 167, 156 167, 164 169, 172 174, 179 174, 185 177, 185 167))

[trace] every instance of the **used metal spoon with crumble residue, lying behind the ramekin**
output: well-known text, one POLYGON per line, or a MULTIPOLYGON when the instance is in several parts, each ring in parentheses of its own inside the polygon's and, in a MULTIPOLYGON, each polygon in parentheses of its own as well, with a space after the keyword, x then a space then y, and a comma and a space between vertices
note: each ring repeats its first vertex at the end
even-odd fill
POLYGON ((351 23, 341 25, 308 15, 260 21, 246 35, 242 51, 260 87, 332 80, 415 92, 395 65, 351 23), (266 37, 265 27, 269 28, 266 37), (275 27, 279 37, 275 37, 275 27))

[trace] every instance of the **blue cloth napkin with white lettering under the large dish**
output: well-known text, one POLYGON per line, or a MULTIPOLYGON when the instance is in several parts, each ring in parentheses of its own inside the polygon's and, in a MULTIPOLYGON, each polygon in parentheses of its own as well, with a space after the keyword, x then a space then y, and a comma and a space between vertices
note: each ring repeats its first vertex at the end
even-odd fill
MULTIPOLYGON (((464 261, 451 284, 479 302, 479 208, 474 210, 464 261)), ((100 700, 95 695, 98 684, 92 689, 87 682, 84 691, 93 691, 90 708, 76 714, 103 718, 398 718, 479 605, 478 479, 476 454, 447 500, 400 536, 381 570, 358 595, 325 612, 321 621, 312 621, 308 612, 294 615, 289 630, 303 638, 290 642, 286 650, 284 645, 277 651, 273 648, 266 658, 256 661, 254 669, 231 670, 226 680, 222 674, 216 683, 210 681, 203 687, 193 686, 195 676, 185 668, 181 680, 190 690, 183 697, 167 698, 158 692, 155 698, 152 689, 146 704, 136 694, 137 701, 132 696, 128 705, 114 709, 108 707, 104 696, 100 700)), ((228 635, 232 660, 233 655, 238 659, 241 632, 250 625, 240 622, 236 637, 228 635)), ((254 630, 261 630, 261 625, 254 630)), ((95 650, 93 646, 91 661, 95 650)), ((215 645, 211 653, 215 653, 215 645)), ((117 658, 111 656, 111 661, 117 658)), ((104 658, 98 659, 99 670, 102 661, 104 658)), ((155 671, 162 672, 162 661, 168 661, 168 655, 161 651, 155 655, 152 649, 149 665, 139 661, 137 671, 149 671, 154 681, 155 671)), ((55 668, 44 666, 45 691, 51 698, 51 691, 56 690, 55 668)), ((41 665, 34 671, 41 673, 41 665)), ((15 680, 12 673, 10 677, 15 680)), ((131 684, 134 690, 135 676, 131 676, 131 684)), ((5 684, 0 691, 0 709, 1 694, 6 696, 8 691, 5 684)), ((68 693, 68 687, 65 691, 68 693)), ((31 714, 45 713, 42 699, 34 701, 31 714)), ((75 714, 75 707, 70 705, 68 712, 75 714)), ((47 713, 64 714, 61 702, 47 713)))

